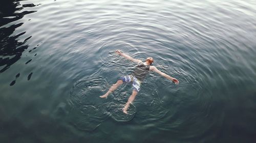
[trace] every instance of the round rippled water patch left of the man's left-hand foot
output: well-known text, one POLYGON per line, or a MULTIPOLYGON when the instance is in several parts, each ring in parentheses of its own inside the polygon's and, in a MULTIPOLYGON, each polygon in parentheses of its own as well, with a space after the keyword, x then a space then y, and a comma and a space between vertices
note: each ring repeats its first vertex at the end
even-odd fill
POLYGON ((99 95, 103 95, 106 84, 101 78, 77 81, 70 93, 69 122, 81 130, 94 130, 108 117, 105 105, 99 95))

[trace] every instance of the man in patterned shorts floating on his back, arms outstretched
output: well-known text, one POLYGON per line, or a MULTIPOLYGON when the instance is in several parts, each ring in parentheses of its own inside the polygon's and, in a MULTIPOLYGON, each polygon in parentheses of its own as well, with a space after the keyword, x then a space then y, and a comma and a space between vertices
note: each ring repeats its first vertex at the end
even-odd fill
POLYGON ((132 75, 126 75, 121 77, 115 84, 112 85, 112 87, 109 89, 108 92, 106 92, 104 95, 100 96, 101 98, 107 98, 111 92, 116 90, 121 84, 123 83, 132 83, 133 84, 133 93, 129 97, 128 101, 126 102, 123 112, 127 114, 127 109, 129 108, 130 104, 135 99, 136 95, 140 91, 140 85, 143 80, 143 78, 146 76, 146 73, 148 71, 154 71, 162 75, 163 77, 172 80, 174 83, 178 84, 179 81, 176 78, 170 77, 169 75, 159 71, 155 66, 152 66, 152 63, 154 62, 154 59, 151 57, 148 57, 145 62, 142 62, 138 59, 133 59, 131 56, 124 54, 120 50, 115 51, 117 54, 123 56, 124 58, 131 60, 132 62, 135 62, 137 66, 134 69, 134 73, 132 75))

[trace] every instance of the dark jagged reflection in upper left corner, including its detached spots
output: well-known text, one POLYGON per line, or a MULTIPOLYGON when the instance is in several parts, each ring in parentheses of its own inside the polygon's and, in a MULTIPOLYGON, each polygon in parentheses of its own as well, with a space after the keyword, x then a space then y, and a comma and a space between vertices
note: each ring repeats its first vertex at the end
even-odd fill
MULTIPOLYGON (((34 4, 24 4, 21 5, 18 1, 7 1, 1 4, 1 23, 0 23, 0 73, 6 71, 17 62, 23 52, 28 49, 29 45, 26 42, 32 37, 29 36, 25 40, 20 41, 20 36, 24 35, 26 32, 21 32, 14 34, 14 31, 19 26, 23 25, 23 22, 12 23, 22 19, 24 15, 34 13, 36 11, 24 11, 26 7, 35 7, 34 4)), ((30 60, 32 61, 32 60, 30 60)), ((26 62, 28 64, 30 61, 26 62)), ((15 84, 16 79, 19 77, 19 73, 16 75, 15 80, 13 80, 10 85, 15 84), (17 76, 18 75, 18 76, 17 76)), ((31 75, 28 77, 28 80, 31 75)))

